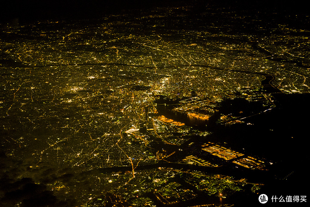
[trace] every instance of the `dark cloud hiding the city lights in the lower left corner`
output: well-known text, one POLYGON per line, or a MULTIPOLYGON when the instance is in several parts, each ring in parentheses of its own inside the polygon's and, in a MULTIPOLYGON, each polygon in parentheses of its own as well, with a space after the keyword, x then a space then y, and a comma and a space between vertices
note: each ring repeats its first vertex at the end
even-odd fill
MULTIPOLYGON (((57 206, 69 207, 76 205, 75 200, 59 200, 53 191, 47 190, 47 184, 57 179, 55 169, 42 164, 42 170, 29 168, 27 171, 40 177, 42 182, 36 183, 33 178, 20 178, 20 164, 18 160, 12 160, 5 153, 0 152, 0 206, 38 207, 57 206)), ((71 177, 64 176, 63 180, 71 177)))

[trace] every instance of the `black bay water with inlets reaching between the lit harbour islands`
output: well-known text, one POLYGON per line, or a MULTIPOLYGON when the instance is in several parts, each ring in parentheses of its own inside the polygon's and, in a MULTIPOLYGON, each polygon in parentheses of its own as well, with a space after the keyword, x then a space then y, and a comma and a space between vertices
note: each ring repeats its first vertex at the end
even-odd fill
MULTIPOLYGON (((249 182, 265 183, 258 191, 259 194, 283 196, 307 194, 300 188, 300 182, 308 177, 304 166, 307 160, 309 161, 308 145, 306 144, 309 132, 307 130, 308 122, 304 118, 310 115, 308 107, 310 96, 309 94, 274 94, 274 97, 277 100, 275 109, 243 119, 253 125, 234 124, 213 128, 216 130, 212 135, 205 138, 193 137, 186 142, 194 142, 198 145, 204 142, 215 142, 220 145, 225 143, 246 155, 270 160, 273 165, 269 166, 269 172, 254 173, 248 170, 232 170, 231 167, 201 169, 202 171, 211 170, 209 172, 226 173, 235 178, 247 178, 249 182)), ((205 124, 208 124, 202 119, 175 114, 168 107, 160 106, 158 109, 165 116, 183 120, 197 129, 202 129, 205 124)), ((253 200, 257 199, 256 197, 246 192, 237 192, 234 196, 225 199, 224 203, 244 206, 249 202, 253 205, 253 200)), ((289 206, 287 203, 282 205, 289 206)))

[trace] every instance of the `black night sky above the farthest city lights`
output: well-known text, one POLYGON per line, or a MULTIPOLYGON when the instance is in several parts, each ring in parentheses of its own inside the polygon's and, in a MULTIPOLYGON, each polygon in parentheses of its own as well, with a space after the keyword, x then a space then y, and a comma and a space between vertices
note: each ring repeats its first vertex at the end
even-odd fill
POLYGON ((227 0, 47 0, 47 1, 7 1, 1 5, 0 23, 6 24, 18 19, 20 24, 38 20, 59 19, 90 19, 100 18, 106 14, 120 14, 122 10, 152 9, 156 7, 182 7, 190 5, 201 12, 205 5, 231 7, 235 11, 260 10, 277 13, 308 15, 309 10, 305 1, 227 1, 227 0))

